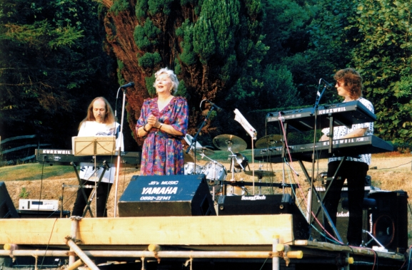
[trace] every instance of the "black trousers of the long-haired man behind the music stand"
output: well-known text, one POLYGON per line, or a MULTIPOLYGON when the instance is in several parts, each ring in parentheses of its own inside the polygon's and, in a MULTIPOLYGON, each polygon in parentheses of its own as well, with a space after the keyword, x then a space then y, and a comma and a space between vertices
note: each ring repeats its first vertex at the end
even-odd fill
MULTIPOLYGON (((95 184, 94 181, 87 181, 84 179, 81 180, 81 185, 94 186, 94 184, 95 184)), ((107 217, 106 202, 107 202, 107 198, 109 197, 109 192, 110 192, 112 185, 113 184, 111 183, 100 182, 99 187, 97 188, 97 192, 96 192, 96 208, 97 208, 96 217, 107 217)), ((91 189, 91 188, 84 189, 84 193, 86 193, 87 198, 90 197, 92 190, 94 189, 91 189)), ((77 190, 77 197, 76 197, 76 201, 74 202, 73 212, 71 215, 81 217, 83 215, 86 204, 87 204, 87 201, 84 199, 83 192, 81 192, 81 188, 79 188, 77 190)), ((93 214, 95 213, 93 212, 93 214)))

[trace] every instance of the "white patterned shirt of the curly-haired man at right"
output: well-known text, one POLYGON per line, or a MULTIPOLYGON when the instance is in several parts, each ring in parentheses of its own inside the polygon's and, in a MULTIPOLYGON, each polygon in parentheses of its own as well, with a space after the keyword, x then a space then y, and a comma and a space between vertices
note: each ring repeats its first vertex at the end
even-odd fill
MULTIPOLYGON (((363 105, 365 105, 368 110, 371 110, 374 113, 373 105, 369 100, 365 98, 358 98, 363 105)), ((345 101, 343 101, 345 102, 345 101)), ((353 130, 357 130, 358 128, 367 128, 365 136, 373 135, 373 122, 370 123, 361 123, 361 124, 354 124, 351 128, 346 128, 344 125, 339 125, 337 127, 333 127, 333 140, 338 140, 344 135, 351 133, 353 130)), ((329 133, 329 128, 323 128, 323 134, 329 133)), ((342 160, 342 157, 330 157, 329 162, 342 160)), ((356 161, 356 162, 365 162, 367 165, 371 165, 371 154, 363 154, 359 155, 359 157, 346 157, 346 160, 349 161, 356 161)))

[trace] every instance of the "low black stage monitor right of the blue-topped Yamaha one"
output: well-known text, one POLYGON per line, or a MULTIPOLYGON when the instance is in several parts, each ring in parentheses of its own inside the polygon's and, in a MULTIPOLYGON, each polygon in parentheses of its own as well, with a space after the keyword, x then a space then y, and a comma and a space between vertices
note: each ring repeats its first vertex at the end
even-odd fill
POLYGON ((290 194, 258 194, 218 197, 218 215, 292 214, 293 236, 308 239, 309 224, 290 194))

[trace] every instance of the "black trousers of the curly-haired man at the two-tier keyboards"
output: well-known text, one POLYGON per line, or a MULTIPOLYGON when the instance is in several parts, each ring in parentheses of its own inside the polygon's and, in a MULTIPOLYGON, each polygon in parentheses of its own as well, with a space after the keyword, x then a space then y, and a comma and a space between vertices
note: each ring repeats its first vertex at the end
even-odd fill
MULTIPOLYGON (((332 177, 335 174, 339 164, 340 161, 328 163, 328 177, 332 177)), ((362 243, 362 207, 368 169, 369 167, 366 163, 346 160, 339 168, 338 175, 336 175, 336 178, 341 177, 341 179, 333 180, 326 197, 323 199, 325 208, 333 224, 336 226, 336 212, 338 212, 339 199, 341 199, 341 190, 343 182, 347 179, 349 223, 346 238, 348 243, 353 246, 359 246, 362 243)), ((334 235, 333 229, 328 222, 325 222, 324 227, 326 231, 334 235)))

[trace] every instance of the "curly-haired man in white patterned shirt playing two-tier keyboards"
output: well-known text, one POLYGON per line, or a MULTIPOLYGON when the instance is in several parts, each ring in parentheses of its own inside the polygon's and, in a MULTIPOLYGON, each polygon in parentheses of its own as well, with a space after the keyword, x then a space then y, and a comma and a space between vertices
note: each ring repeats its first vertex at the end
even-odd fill
MULTIPOLYGON (((362 98, 362 77, 358 71, 353 68, 345 68, 336 72, 333 77, 336 80, 336 90, 338 95, 344 98, 343 102, 359 100, 365 105, 368 110, 373 113, 373 105, 371 102, 362 98)), ((322 130, 321 140, 328 140, 330 130, 324 128, 322 130)), ((361 123, 352 125, 351 128, 346 126, 338 126, 333 128, 333 140, 361 137, 373 135, 373 123, 361 123)), ((331 157, 328 162, 328 177, 333 177, 343 157, 331 157)), ((346 157, 338 170, 336 178, 333 179, 329 187, 326 197, 323 198, 326 210, 331 216, 333 224, 336 226, 336 212, 338 209, 339 199, 341 198, 341 189, 345 180, 348 182, 348 210, 349 223, 347 239, 351 246, 360 246, 362 243, 362 214, 363 214, 363 197, 365 194, 365 179, 371 165, 371 154, 364 154, 352 157, 346 157)), ((333 230, 326 222, 326 232, 333 236, 333 230)), ((346 244, 346 243, 343 243, 346 244)))

